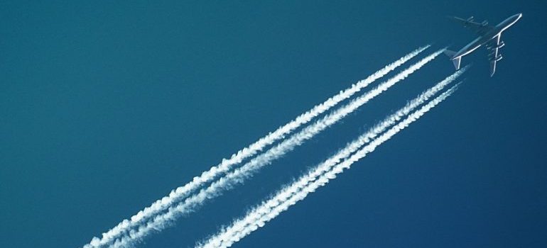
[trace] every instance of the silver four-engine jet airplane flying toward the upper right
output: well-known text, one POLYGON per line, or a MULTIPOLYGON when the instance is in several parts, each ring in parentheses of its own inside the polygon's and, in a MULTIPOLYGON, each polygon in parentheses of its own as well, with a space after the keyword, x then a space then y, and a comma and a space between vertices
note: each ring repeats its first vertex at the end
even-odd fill
POLYGON ((502 60, 502 55, 498 54, 499 48, 505 45, 503 41, 500 41, 502 32, 516 23, 516 21, 519 21, 521 17, 522 13, 517 13, 516 15, 505 19, 505 21, 502 21, 497 26, 490 26, 487 21, 477 23, 473 20, 473 17, 467 19, 451 17, 455 21, 462 23, 464 27, 475 31, 475 33, 479 35, 479 38, 476 38, 457 52, 445 50, 444 53, 450 58, 450 60, 452 60, 454 67, 458 70, 460 69, 460 62, 462 61, 463 56, 470 54, 480 46, 484 45, 489 51, 488 60, 490 62, 490 77, 492 77, 494 76, 494 72, 496 72, 496 62, 502 60))

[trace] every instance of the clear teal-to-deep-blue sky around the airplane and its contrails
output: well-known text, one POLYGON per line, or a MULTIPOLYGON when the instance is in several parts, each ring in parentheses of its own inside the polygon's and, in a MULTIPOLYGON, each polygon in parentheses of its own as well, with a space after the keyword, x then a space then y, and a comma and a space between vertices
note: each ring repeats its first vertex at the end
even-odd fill
MULTIPOLYGON (((0 247, 81 247, 411 50, 509 28, 452 97, 235 247, 547 247, 545 1, 0 1, 0 247)), ((413 60, 416 61, 416 60, 413 60)), ((192 247, 445 57, 139 247, 192 247)), ((392 75, 392 74, 391 74, 392 75)))

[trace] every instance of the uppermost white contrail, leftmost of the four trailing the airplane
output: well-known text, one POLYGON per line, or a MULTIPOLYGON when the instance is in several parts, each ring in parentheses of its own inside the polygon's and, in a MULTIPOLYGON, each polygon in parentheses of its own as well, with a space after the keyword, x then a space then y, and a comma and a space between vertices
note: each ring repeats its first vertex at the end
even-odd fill
POLYGON ((336 94, 335 96, 328 98, 323 103, 314 106, 309 111, 299 115, 294 120, 291 120, 291 122, 279 127, 277 130, 273 131, 273 133, 269 133, 268 135, 261 137, 259 140, 249 145, 248 147, 245 147, 242 150, 239 150, 238 152, 232 154, 232 157, 230 157, 229 159, 222 159, 222 162, 220 164, 211 167, 209 171, 204 171, 201 176, 195 176, 193 181, 190 181, 184 186, 175 188, 169 193, 168 196, 165 196, 160 200, 154 202, 152 205, 139 211, 139 213, 131 216, 131 218, 122 220, 121 222, 119 222, 118 225, 112 227, 111 230, 104 232, 102 234, 102 238, 93 237, 91 242, 89 244, 86 244, 84 247, 101 247, 102 245, 109 244, 109 242, 112 242, 116 237, 123 234, 124 232, 127 232, 132 227, 135 227, 136 225, 139 225, 143 221, 147 220, 148 218, 151 218, 153 215, 156 215, 161 211, 166 210, 174 202, 185 198, 197 188, 200 188, 204 184, 212 181, 220 174, 229 171, 235 164, 239 164, 244 159, 252 157, 256 153, 261 152, 264 147, 283 139, 285 135, 291 133, 293 130, 296 130, 305 123, 310 122, 310 120, 313 120, 313 118, 317 117, 318 115, 325 113, 325 111, 328 111, 330 108, 337 105, 337 103, 340 103, 340 101, 344 101, 345 99, 350 98, 355 93, 367 87, 373 81, 384 77, 389 72, 401 66, 401 64, 404 64, 408 60, 411 60, 413 57, 416 57, 416 55, 420 54, 428 47, 430 47, 430 45, 419 47, 417 50, 414 50, 408 55, 401 57, 399 60, 396 60, 395 62, 386 65, 386 67, 380 69, 379 71, 374 72, 374 74, 367 77, 367 79, 363 79, 361 81, 358 81, 356 84, 352 84, 350 88, 345 89, 344 91, 340 91, 339 94, 336 94))

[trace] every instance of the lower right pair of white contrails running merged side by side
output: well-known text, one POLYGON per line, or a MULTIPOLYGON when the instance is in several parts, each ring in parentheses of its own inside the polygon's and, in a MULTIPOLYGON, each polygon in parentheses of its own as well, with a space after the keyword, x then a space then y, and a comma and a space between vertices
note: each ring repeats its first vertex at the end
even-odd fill
POLYGON ((404 108, 401 108, 396 113, 389 115, 384 121, 376 125, 374 128, 371 128, 367 133, 359 136, 357 140, 354 140, 348 144, 347 147, 337 152, 337 154, 319 164, 315 167, 315 169, 313 169, 313 171, 308 172, 305 176, 301 176, 298 181, 295 181, 290 186, 282 188, 278 191, 276 196, 270 198, 269 201, 264 201, 261 205, 249 211, 244 218, 235 220, 232 222, 232 225, 224 228, 217 235, 210 237, 210 239, 207 239, 205 244, 198 244, 197 247, 230 247, 234 244, 234 242, 238 242, 254 230, 257 230, 259 227, 263 227, 266 222, 276 218, 277 215, 281 214, 284 210, 287 210, 291 205, 303 200, 303 198, 308 196, 309 193, 314 192, 318 187, 327 184, 330 179, 335 179, 337 174, 342 173, 344 169, 349 169, 354 162, 362 159, 369 152, 374 151, 378 145, 381 145, 381 143, 389 140, 396 133, 399 133, 399 131, 406 128, 410 123, 418 120, 421 115, 425 114, 438 103, 445 100, 445 98, 448 98, 448 96, 450 96, 450 94, 457 89, 457 85, 453 86, 448 91, 445 91, 443 94, 433 99, 433 101, 426 104, 426 106, 423 106, 420 110, 412 113, 408 116, 408 118, 388 130, 384 133, 384 135, 381 135, 377 140, 373 140, 369 145, 359 150, 359 147, 362 147, 364 144, 376 137, 376 135, 383 132, 390 125, 396 123, 396 121, 400 118, 404 117, 404 115, 407 115, 414 108, 427 101, 430 96, 433 96, 438 91, 442 90, 447 84, 450 84, 450 82, 459 77, 460 74, 462 74, 462 72, 456 72, 443 81, 440 81, 440 83, 433 86, 433 88, 428 89, 428 91, 407 103, 404 108), (356 153, 347 159, 347 157, 349 157, 353 152, 356 153), (342 159, 345 160, 340 163, 342 159))

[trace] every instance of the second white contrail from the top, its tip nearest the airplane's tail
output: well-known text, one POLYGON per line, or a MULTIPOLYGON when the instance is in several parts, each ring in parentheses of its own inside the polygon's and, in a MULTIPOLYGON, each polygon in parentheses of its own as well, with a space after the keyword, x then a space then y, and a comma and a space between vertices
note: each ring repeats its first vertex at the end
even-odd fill
POLYGON ((367 103, 372 98, 386 91, 397 82, 408 77, 408 75, 416 72, 416 70, 435 59, 435 57, 440 55, 443 51, 444 49, 433 52, 433 54, 428 55, 422 60, 416 62, 416 64, 412 64, 407 69, 404 69, 404 71, 399 72, 399 74, 396 74, 391 79, 379 84, 371 91, 359 96, 358 98, 355 98, 350 101, 350 103, 347 103, 347 105, 338 108, 328 115, 325 115, 324 118, 311 125, 308 125, 303 128, 303 130, 300 130, 300 132, 292 135, 286 140, 283 140, 283 142, 272 147, 270 150, 254 157, 254 159, 251 159, 251 161, 247 162, 247 164, 244 164, 242 167, 234 169, 234 171, 213 182, 209 187, 202 189, 199 193, 186 198, 185 201, 178 203, 178 205, 174 207, 170 207, 166 213, 156 215, 153 217, 153 220, 146 222, 146 225, 139 226, 138 230, 132 230, 129 234, 117 239, 114 242, 114 247, 125 247, 127 244, 131 244, 131 242, 141 240, 153 230, 163 230, 168 226, 168 224, 170 224, 170 222, 173 222, 176 218, 178 218, 178 216, 192 212, 195 208, 205 203, 207 199, 219 196, 224 190, 232 188, 235 184, 241 184, 249 176, 252 176, 255 171, 267 164, 270 164, 273 159, 283 156, 283 154, 293 150, 294 147, 302 144, 305 140, 309 140, 322 130, 325 130, 325 128, 328 128, 338 120, 341 120, 346 115, 362 106, 364 103, 367 103))

